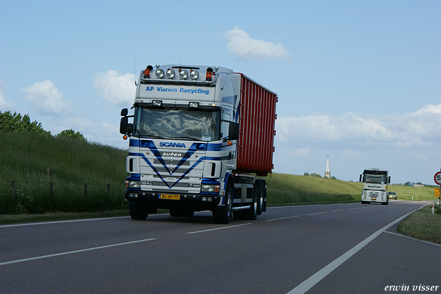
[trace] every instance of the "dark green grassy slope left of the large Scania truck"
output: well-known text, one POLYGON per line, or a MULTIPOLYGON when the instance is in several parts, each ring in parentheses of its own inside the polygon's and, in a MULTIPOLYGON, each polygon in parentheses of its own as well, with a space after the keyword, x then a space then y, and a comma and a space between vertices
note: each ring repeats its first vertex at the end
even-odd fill
POLYGON ((125 150, 21 132, 0 132, 0 150, 0 214, 126 207, 125 150))

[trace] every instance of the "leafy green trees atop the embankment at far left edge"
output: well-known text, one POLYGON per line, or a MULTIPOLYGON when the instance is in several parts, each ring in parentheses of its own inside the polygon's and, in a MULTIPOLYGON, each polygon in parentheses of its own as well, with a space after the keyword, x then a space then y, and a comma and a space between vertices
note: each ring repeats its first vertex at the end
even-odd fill
POLYGON ((0 112, 0 131, 1 132, 24 132, 50 135, 50 131, 43 129, 41 123, 30 121, 29 115, 21 117, 20 114, 10 111, 0 112))

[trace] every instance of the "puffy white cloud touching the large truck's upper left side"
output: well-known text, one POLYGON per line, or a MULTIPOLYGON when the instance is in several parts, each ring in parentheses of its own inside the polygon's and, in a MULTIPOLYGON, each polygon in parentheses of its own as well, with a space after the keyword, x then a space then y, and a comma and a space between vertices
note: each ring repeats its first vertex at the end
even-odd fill
POLYGON ((132 104, 135 97, 135 75, 121 74, 116 70, 96 72, 94 86, 96 92, 115 105, 132 104))

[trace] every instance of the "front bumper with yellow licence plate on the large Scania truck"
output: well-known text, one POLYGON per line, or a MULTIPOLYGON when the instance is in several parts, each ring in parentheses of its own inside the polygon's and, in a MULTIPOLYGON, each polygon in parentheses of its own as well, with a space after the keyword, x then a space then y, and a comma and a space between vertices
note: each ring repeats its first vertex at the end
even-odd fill
POLYGON ((132 204, 148 205, 156 208, 190 208, 195 211, 211 210, 218 206, 220 196, 215 194, 151 192, 135 189, 125 190, 125 199, 132 204), (164 199, 168 197, 168 199, 164 199))

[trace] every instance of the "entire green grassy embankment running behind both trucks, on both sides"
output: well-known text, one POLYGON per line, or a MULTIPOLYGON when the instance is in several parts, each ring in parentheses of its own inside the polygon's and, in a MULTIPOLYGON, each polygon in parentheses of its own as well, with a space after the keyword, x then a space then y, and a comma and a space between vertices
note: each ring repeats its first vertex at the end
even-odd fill
MULTIPOLYGON (((0 132, 0 150, 0 214, 127 208, 127 150, 19 132, 0 132)), ((274 173, 267 177, 267 204, 358 202, 361 188, 359 182, 274 173)), ((433 187, 390 185, 389 190, 398 199, 433 199, 433 187)))

